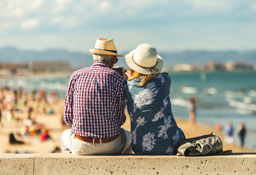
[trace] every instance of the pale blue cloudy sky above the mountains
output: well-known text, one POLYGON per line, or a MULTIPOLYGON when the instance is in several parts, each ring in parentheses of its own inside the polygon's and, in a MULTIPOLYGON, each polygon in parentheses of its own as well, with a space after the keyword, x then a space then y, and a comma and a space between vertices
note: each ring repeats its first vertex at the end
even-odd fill
POLYGON ((256 50, 256 0, 0 0, 0 48, 256 50))

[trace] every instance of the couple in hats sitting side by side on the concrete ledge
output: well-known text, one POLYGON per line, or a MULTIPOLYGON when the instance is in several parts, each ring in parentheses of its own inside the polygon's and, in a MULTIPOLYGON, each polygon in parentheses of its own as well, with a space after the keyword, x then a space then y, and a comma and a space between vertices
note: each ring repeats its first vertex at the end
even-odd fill
POLYGON ((72 73, 65 99, 64 120, 69 130, 61 135, 63 153, 75 155, 177 154, 185 138, 172 114, 171 79, 160 73, 163 60, 156 49, 141 44, 125 55, 127 80, 112 70, 117 57, 113 39, 99 38, 94 63, 72 73), (120 128, 127 105, 131 131, 120 128))

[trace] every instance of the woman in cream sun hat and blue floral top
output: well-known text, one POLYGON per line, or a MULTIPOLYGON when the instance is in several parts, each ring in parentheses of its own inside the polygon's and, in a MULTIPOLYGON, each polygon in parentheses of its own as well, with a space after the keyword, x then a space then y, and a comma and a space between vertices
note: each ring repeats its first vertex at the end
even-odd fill
POLYGON ((149 44, 141 44, 125 55, 131 71, 125 72, 124 100, 127 104, 132 133, 132 149, 136 154, 177 154, 178 140, 185 138, 177 126, 171 109, 168 73, 159 73, 162 58, 149 44))

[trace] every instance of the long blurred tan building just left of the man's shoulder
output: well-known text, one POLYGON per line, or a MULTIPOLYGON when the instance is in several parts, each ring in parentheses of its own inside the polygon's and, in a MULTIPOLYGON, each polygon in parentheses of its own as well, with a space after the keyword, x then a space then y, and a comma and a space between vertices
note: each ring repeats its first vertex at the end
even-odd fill
POLYGON ((68 69, 67 61, 30 62, 28 64, 30 72, 58 72, 68 69))

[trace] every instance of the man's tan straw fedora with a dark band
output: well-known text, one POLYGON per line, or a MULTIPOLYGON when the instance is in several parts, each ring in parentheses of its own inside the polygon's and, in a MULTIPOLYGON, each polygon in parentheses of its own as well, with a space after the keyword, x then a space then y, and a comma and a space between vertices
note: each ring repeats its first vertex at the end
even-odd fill
POLYGON ((103 55, 115 55, 118 57, 123 56, 117 54, 117 48, 114 44, 114 39, 98 38, 94 49, 90 49, 90 52, 103 55))

